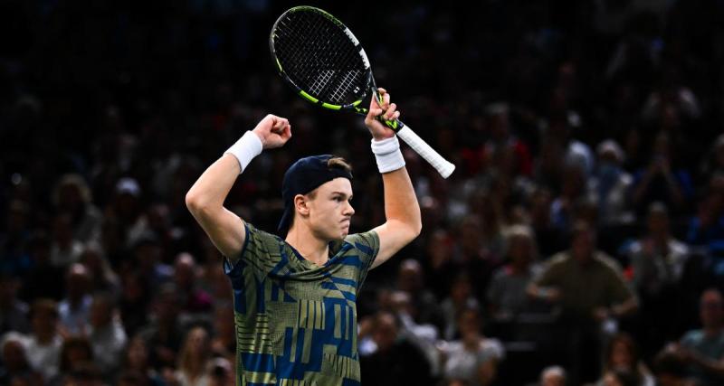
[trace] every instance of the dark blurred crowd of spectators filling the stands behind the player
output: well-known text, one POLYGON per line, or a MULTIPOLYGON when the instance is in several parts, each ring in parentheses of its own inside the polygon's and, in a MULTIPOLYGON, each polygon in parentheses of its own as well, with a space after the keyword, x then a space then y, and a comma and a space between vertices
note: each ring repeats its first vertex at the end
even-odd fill
MULTIPOLYGON (((0 2, 0 384, 231 385, 233 299, 188 188, 267 113, 287 146, 226 202, 262 230, 360 118, 274 73, 267 0, 0 2)), ((724 3, 323 6, 403 119, 423 233, 358 296, 370 385, 724 384, 724 3), (368 15, 373 11, 374 17, 368 15)))

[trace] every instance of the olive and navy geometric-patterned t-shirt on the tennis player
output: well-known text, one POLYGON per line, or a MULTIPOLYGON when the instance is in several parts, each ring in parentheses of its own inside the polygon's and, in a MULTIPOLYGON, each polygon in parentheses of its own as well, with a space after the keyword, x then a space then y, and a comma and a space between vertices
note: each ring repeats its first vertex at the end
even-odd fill
POLYGON ((357 385, 357 293, 379 249, 375 231, 329 245, 322 267, 246 223, 232 281, 237 384, 357 385))

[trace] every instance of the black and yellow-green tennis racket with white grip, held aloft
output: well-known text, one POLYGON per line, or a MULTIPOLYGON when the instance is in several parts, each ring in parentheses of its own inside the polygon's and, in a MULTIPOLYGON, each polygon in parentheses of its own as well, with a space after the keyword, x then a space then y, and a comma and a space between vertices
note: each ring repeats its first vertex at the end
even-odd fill
MULTIPOLYGON (((322 108, 367 115, 360 103, 372 92, 382 104, 367 53, 349 28, 313 6, 284 12, 271 28, 271 57, 281 77, 299 95, 322 108)), ((380 118, 430 165, 447 178, 455 165, 401 121, 380 118)))

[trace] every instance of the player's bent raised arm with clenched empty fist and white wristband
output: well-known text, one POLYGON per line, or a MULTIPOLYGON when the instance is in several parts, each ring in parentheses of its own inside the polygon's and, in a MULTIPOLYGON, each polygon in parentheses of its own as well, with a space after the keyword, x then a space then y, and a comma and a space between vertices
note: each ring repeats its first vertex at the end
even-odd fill
POLYGON ((186 207, 224 256, 241 252, 246 234, 242 219, 224 208, 236 177, 263 149, 283 146, 291 137, 286 118, 264 117, 208 167, 186 193, 186 207))

